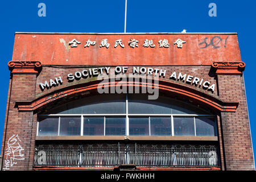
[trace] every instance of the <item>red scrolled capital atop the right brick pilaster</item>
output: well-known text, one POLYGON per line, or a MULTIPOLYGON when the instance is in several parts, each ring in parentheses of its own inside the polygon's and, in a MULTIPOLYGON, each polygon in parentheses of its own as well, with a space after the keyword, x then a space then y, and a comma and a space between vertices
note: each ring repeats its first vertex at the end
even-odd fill
POLYGON ((212 68, 216 75, 242 75, 245 70, 245 63, 240 62, 213 62, 212 68))

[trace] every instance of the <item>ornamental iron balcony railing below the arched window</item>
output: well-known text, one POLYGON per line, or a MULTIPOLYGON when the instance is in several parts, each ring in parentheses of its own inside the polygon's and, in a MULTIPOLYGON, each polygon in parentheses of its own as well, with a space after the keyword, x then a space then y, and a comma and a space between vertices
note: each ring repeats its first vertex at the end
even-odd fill
POLYGON ((141 167, 220 166, 214 145, 189 144, 82 144, 38 145, 35 166, 113 167, 135 164, 141 167))

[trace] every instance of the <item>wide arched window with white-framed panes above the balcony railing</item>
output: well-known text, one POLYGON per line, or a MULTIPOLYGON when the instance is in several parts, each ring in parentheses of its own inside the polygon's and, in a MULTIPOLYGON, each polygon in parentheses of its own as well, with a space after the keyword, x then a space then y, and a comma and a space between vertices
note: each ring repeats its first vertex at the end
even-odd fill
POLYGON ((38 136, 216 136, 213 114, 192 104, 143 94, 101 94, 39 115, 38 136))

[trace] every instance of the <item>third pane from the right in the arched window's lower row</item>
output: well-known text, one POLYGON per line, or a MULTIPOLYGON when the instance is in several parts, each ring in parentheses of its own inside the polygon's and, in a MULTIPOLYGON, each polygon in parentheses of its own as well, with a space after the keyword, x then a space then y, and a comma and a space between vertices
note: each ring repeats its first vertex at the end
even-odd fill
POLYGON ((171 118, 150 117, 151 135, 171 135, 171 118))

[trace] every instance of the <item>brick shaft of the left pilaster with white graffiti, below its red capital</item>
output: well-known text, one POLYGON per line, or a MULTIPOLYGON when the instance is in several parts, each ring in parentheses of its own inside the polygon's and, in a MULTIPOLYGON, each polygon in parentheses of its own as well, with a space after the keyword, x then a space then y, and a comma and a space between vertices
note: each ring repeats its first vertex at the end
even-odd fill
MULTIPOLYGON (((20 112, 15 107, 16 101, 30 101, 35 98, 35 83, 36 75, 16 75, 14 74, 10 79, 9 94, 6 109, 6 119, 3 133, 2 142, 2 155, 3 165, 2 169, 10 168, 10 170, 28 170, 29 156, 32 155, 34 150, 30 150, 31 144, 35 143, 35 140, 31 140, 32 136, 32 119, 33 112, 20 112), (15 140, 10 140, 11 137, 15 137, 15 140), (18 135, 18 137, 16 137, 18 135), (8 144, 9 142, 9 144, 8 144), (13 145, 12 145, 13 144, 13 145), (7 155, 9 151, 12 151, 9 147, 18 147, 19 151, 13 154, 7 155), (11 158, 16 158, 12 159, 11 158), (10 163, 9 167, 6 163, 10 163), (13 166, 11 166, 13 163, 13 166)), ((13 139, 13 138, 11 138, 13 139)), ((17 148, 16 148, 17 149, 17 148)))

